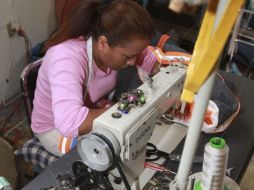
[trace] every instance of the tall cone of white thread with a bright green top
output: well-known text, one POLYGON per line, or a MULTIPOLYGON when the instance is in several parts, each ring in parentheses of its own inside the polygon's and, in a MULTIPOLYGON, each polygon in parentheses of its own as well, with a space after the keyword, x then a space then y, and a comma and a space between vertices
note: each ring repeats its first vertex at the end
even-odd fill
POLYGON ((223 190, 229 148, 222 138, 214 137, 205 146, 201 177, 202 190, 223 190))

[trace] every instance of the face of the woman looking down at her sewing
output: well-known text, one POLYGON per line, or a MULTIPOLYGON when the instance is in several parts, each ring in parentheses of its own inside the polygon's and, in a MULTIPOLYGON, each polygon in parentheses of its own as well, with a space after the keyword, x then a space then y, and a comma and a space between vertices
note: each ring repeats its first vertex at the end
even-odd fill
POLYGON ((131 40, 124 46, 115 47, 110 47, 106 42, 101 48, 100 60, 106 67, 121 70, 135 65, 137 57, 148 45, 148 39, 131 40))

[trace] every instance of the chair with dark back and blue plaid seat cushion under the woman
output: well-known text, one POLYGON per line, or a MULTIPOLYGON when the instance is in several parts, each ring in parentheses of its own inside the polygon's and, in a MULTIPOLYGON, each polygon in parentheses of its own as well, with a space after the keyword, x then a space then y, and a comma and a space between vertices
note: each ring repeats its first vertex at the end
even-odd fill
POLYGON ((22 148, 16 150, 14 153, 15 155, 22 155, 26 161, 32 162, 35 166, 45 168, 52 162, 56 161, 58 157, 49 153, 41 145, 39 139, 34 135, 30 128, 36 80, 42 60, 43 59, 41 58, 28 64, 21 73, 21 91, 24 99, 29 130, 33 138, 28 140, 22 148))

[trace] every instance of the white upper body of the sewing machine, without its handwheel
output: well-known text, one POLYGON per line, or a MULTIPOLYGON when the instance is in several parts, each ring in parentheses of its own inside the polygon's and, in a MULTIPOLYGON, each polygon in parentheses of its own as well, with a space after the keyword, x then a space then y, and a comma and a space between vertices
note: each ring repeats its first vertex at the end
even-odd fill
POLYGON ((162 68, 153 77, 152 88, 147 83, 139 87, 146 98, 142 107, 132 108, 129 113, 115 119, 112 114, 118 109, 117 105, 113 106, 94 120, 93 132, 102 128, 110 131, 117 137, 123 161, 133 159, 150 139, 158 117, 179 98, 184 77, 185 69, 177 65, 162 68))

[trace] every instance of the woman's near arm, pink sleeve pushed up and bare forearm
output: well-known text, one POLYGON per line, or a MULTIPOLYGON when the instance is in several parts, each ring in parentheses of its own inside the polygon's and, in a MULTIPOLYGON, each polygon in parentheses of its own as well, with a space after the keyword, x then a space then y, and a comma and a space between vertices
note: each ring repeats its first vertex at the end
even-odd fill
POLYGON ((48 76, 54 125, 64 136, 90 132, 93 120, 112 105, 109 101, 99 101, 95 106, 90 106, 89 101, 84 101, 84 81, 88 77, 85 76, 87 56, 84 56, 86 52, 83 47, 80 50, 75 43, 71 45, 52 48, 46 56, 50 65, 48 76))

